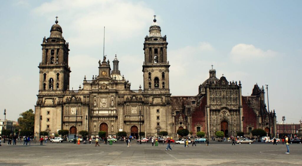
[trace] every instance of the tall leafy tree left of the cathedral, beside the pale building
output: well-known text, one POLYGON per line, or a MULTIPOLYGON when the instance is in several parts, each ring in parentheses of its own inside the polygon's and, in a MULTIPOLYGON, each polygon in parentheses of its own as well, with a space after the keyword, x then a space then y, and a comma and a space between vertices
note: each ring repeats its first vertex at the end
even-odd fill
POLYGON ((34 133, 35 114, 32 109, 29 109, 20 114, 18 118, 19 127, 22 130, 29 130, 34 133))

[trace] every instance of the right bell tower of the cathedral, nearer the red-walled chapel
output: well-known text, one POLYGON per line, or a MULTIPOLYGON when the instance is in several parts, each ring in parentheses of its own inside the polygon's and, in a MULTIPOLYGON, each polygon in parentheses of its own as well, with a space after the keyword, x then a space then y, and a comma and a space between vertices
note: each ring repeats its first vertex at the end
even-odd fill
POLYGON ((162 37, 161 28, 156 23, 149 27, 149 36, 145 37, 143 63, 144 90, 163 89, 169 91, 169 62, 167 61, 166 35, 162 37))

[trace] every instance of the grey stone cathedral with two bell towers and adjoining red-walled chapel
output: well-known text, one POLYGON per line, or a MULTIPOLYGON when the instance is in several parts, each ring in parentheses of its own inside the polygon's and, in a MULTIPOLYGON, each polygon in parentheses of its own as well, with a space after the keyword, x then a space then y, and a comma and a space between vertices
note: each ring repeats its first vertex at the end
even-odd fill
POLYGON ((98 75, 92 80, 85 76, 79 90, 70 90, 69 43, 62 33, 56 20, 50 37, 44 37, 41 44, 37 135, 46 131, 54 136, 61 129, 69 134, 86 130, 89 136, 105 131, 109 137, 119 131, 137 137, 140 131, 147 137, 167 131, 175 137, 178 129, 188 129, 192 135, 204 131, 207 137, 215 136, 216 131, 225 136, 236 136, 238 131, 250 135, 257 128, 268 135, 276 133, 276 114, 266 110, 263 86, 255 85, 251 96, 242 96, 240 81, 229 82, 224 76, 218 79, 213 66, 196 96, 171 96, 168 42, 156 19, 143 43, 143 89, 138 90, 131 90, 131 83, 121 75, 116 55, 112 69, 103 56, 98 61, 98 75))

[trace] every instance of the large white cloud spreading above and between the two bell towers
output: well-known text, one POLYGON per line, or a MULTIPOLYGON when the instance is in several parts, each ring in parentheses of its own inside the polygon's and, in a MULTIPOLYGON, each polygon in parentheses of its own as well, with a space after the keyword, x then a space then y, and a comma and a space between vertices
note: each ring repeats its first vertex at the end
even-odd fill
POLYGON ((66 38, 67 41, 82 48, 101 46, 104 27, 106 43, 144 36, 142 32, 146 32, 148 25, 151 25, 154 14, 154 11, 142 2, 117 0, 53 0, 43 3, 33 12, 52 21, 58 14, 59 24, 69 25, 61 25, 63 32, 66 30, 68 34, 72 34, 72 37, 66 38))

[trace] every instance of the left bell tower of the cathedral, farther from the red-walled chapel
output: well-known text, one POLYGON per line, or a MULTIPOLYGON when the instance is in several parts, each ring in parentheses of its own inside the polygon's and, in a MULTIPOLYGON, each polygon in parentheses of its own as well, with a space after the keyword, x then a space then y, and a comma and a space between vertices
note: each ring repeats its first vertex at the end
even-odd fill
POLYGON ((66 90, 69 88, 68 43, 62 37, 62 28, 56 24, 50 29, 50 37, 43 38, 42 62, 39 64, 39 91, 66 90))

